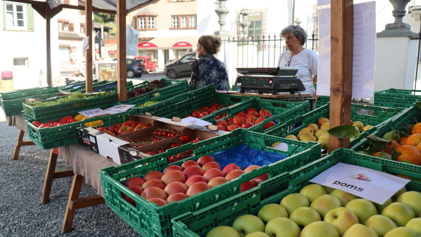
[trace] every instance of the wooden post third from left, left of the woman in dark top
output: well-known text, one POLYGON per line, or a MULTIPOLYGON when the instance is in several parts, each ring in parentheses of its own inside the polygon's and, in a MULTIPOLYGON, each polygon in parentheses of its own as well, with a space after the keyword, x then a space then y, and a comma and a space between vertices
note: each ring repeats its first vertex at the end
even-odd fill
POLYGON ((117 0, 117 91, 119 101, 127 99, 126 1, 117 0))

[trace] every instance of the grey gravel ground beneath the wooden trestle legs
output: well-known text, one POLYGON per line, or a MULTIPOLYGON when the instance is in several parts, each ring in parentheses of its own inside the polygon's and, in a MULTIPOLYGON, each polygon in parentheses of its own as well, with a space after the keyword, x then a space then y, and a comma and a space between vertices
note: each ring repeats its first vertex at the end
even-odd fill
MULTIPOLYGON (((55 179, 50 203, 41 205, 42 185, 49 150, 42 150, 37 146, 23 147, 19 159, 12 160, 18 129, 0 122, 0 131, 0 141, 2 141, 0 144, 1 237, 139 236, 105 204, 77 210, 73 221, 73 231, 61 234, 64 208, 67 204, 72 178, 55 179)), ((25 140, 28 139, 26 135, 25 140)), ((70 168, 59 156, 56 170, 70 168)), ((96 190, 84 183, 80 196, 95 194, 96 190)))

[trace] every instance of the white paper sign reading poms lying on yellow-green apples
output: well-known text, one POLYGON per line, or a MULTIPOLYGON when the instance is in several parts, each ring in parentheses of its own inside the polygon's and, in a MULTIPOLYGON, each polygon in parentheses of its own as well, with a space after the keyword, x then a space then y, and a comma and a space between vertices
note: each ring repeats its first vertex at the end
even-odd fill
POLYGON ((384 204, 410 180, 368 168, 338 163, 310 182, 339 189, 378 204, 384 204))

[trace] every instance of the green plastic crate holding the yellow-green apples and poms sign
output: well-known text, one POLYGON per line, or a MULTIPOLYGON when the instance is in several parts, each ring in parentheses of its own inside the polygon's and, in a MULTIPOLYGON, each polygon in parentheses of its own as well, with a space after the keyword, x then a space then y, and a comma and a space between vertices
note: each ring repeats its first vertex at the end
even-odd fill
MULTIPOLYGON (((279 174, 277 177, 262 182, 258 187, 240 195, 172 219, 174 236, 206 236, 214 227, 222 225, 232 226, 237 217, 245 214, 256 215, 263 206, 272 203, 279 204, 285 196, 300 192, 303 186, 309 184, 311 178, 316 177, 339 162, 381 172, 421 178, 421 167, 366 156, 353 150, 341 148, 298 170, 279 174)), ((417 181, 411 181, 407 187, 411 190, 421 191, 421 183, 417 181)))

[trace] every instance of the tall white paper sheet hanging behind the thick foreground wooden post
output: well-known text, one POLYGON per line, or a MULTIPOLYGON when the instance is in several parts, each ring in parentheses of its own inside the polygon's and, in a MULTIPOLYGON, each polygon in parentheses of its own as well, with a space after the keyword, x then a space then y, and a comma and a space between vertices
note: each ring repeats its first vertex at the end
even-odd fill
MULTIPOLYGON (((317 94, 330 95, 331 9, 319 9, 317 94)), ((376 44, 376 2, 354 4, 352 97, 373 98, 376 44)))

